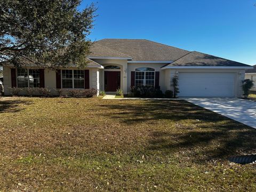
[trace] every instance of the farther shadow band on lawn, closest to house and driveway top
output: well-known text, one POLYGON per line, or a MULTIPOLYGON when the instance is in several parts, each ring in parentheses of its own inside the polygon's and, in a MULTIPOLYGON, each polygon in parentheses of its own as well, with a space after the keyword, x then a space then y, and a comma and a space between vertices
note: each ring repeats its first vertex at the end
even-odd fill
POLYGON ((211 122, 219 120, 223 121, 223 118, 225 118, 210 110, 181 100, 150 100, 142 101, 139 105, 121 102, 118 103, 118 105, 100 105, 100 107, 109 110, 114 109, 113 113, 109 114, 109 116, 113 119, 121 118, 123 123, 129 125, 159 119, 171 119, 174 121, 198 119, 211 122))

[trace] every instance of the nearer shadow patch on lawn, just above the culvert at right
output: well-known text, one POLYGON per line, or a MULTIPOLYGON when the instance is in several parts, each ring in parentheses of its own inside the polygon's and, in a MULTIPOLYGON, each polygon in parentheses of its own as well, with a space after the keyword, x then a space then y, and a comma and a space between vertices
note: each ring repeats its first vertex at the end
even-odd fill
POLYGON ((172 133, 155 131, 150 135, 148 150, 161 150, 169 154, 183 151, 195 163, 211 159, 228 159, 230 156, 256 153, 256 131, 231 128, 172 133), (191 153, 192 152, 192 153, 191 153))

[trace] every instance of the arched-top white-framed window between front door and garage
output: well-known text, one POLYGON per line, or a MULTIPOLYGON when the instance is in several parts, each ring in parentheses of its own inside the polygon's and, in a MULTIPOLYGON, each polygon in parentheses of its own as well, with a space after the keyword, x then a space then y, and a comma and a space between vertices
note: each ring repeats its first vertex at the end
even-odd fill
POLYGON ((135 69, 135 86, 154 87, 154 85, 155 69, 149 67, 135 69))

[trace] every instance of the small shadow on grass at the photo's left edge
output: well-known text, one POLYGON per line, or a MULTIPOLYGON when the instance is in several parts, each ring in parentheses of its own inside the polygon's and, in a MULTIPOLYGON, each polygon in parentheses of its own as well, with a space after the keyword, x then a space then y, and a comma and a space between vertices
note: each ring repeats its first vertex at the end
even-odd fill
POLYGON ((20 105, 30 105, 30 101, 4 100, 0 101, 0 113, 15 113, 23 110, 20 105))

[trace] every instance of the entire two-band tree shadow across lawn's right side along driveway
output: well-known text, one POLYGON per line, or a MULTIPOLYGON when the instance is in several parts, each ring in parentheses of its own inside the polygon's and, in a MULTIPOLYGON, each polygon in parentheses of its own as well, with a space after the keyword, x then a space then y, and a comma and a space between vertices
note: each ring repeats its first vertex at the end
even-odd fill
POLYGON ((145 101, 139 105, 118 104, 101 107, 117 109, 109 116, 130 125, 152 120, 171 120, 166 122, 170 124, 170 129, 156 126, 149 133, 146 151, 161 151, 166 155, 182 151, 196 163, 256 153, 256 130, 192 103, 145 101))

